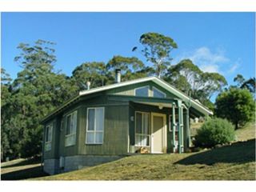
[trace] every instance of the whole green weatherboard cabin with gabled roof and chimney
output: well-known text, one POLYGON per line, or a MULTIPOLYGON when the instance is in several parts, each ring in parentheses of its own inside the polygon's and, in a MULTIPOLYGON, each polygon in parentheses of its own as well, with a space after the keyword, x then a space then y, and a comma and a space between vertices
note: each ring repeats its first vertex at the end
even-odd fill
POLYGON ((43 166, 49 174, 110 162, 137 150, 183 153, 190 118, 212 114, 160 78, 80 91, 42 119, 43 166))

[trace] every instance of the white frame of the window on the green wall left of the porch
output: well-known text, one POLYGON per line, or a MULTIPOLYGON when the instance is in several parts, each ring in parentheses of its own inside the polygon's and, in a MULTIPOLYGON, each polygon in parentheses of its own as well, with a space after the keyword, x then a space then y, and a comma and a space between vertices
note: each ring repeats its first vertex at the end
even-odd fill
POLYGON ((105 130, 105 107, 100 106, 100 107, 87 107, 87 114, 86 114, 86 145, 102 145, 104 143, 104 130, 105 130), (103 128, 102 130, 96 130, 96 109, 102 109, 103 110, 103 116, 102 116, 102 121, 103 121, 103 128), (94 110, 94 130, 88 130, 89 126, 89 110, 94 110), (87 134, 88 133, 93 133, 94 134, 94 142, 88 142, 87 141, 87 134), (102 142, 96 142, 96 134, 97 133, 102 133, 102 142))

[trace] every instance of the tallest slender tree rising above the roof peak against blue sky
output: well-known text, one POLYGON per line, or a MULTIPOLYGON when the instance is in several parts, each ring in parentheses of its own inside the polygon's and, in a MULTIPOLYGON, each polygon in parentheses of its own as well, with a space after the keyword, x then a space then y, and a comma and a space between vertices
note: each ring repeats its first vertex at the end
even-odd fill
POLYGON ((176 42, 158 33, 142 34, 139 42, 144 46, 142 54, 154 65, 155 74, 161 78, 172 60, 170 51, 178 48, 176 42))

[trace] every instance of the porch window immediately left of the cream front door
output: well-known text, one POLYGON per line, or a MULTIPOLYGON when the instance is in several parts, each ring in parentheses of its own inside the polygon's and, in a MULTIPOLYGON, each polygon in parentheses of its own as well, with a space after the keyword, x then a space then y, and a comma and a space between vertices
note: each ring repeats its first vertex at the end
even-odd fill
POLYGON ((136 112, 135 114, 135 145, 150 146, 150 114, 136 112))

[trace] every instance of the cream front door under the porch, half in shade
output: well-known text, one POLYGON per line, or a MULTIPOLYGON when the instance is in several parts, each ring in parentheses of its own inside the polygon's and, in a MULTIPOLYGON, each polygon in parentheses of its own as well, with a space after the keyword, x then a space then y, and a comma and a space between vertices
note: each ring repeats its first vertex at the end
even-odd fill
POLYGON ((166 115, 152 113, 151 153, 166 153, 166 115))

